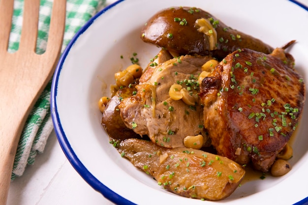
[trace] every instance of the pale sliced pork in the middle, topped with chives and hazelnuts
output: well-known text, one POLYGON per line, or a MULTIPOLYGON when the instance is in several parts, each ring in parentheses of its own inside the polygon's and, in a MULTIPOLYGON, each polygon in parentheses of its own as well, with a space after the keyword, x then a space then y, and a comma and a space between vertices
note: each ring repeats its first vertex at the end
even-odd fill
POLYGON ((121 117, 128 128, 148 135, 159 146, 183 147, 186 136, 208 136, 203 126, 203 106, 198 97, 201 66, 210 57, 181 56, 148 68, 136 86, 137 93, 120 103, 121 117), (144 77, 145 76, 145 77, 144 77), (181 85, 195 101, 188 105, 169 95, 172 85, 181 85))

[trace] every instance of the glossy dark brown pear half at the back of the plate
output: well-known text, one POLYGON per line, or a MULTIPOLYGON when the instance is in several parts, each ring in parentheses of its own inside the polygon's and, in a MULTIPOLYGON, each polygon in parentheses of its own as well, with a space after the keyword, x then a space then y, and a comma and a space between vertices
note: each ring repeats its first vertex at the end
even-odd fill
POLYGON ((261 40, 232 29, 210 13, 192 7, 172 7, 159 11, 142 28, 141 38, 147 43, 181 55, 213 55, 217 59, 223 59, 239 48, 249 48, 266 54, 273 51, 271 46, 261 40), (181 20, 176 21, 175 18, 181 20), (201 18, 210 20, 216 29, 217 48, 214 51, 209 51, 207 35, 195 27, 195 21, 201 18), (172 37, 168 35, 170 33, 172 37))

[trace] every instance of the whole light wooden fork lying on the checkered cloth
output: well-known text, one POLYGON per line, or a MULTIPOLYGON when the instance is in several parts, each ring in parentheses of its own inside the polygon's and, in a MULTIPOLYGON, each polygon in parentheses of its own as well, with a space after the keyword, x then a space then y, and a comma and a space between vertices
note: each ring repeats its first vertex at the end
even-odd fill
POLYGON ((66 0, 54 0, 45 53, 35 53, 40 0, 24 0, 19 49, 8 53, 14 0, 0 0, 0 205, 7 201, 14 158, 34 103, 61 53, 66 0))

